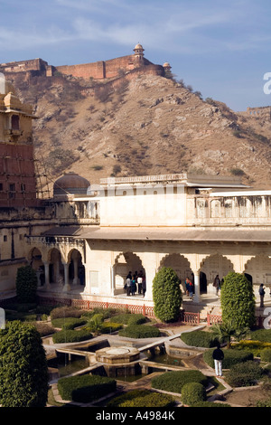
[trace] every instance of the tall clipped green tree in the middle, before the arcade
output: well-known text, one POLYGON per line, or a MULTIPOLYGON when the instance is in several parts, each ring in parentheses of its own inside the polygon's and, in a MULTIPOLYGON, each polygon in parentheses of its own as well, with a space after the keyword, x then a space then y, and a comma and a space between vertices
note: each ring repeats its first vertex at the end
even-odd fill
POLYGON ((164 267, 156 273, 153 283, 154 315, 163 322, 176 321, 182 305, 180 279, 176 272, 164 267))

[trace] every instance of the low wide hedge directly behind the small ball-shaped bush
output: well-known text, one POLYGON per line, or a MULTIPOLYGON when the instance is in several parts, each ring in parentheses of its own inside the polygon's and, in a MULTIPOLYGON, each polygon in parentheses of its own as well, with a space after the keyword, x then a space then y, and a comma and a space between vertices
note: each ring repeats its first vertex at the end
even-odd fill
POLYGON ((165 372, 152 379, 152 388, 168 392, 182 392, 182 387, 188 382, 199 382, 208 385, 208 378, 198 370, 165 372))

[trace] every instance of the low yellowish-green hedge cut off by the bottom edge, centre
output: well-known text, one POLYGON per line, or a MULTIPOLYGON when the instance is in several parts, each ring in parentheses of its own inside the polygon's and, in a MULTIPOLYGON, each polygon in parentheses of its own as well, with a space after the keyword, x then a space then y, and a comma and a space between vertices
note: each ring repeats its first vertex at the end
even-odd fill
POLYGON ((107 407, 171 407, 173 397, 150 390, 135 390, 119 395, 107 403, 107 407))

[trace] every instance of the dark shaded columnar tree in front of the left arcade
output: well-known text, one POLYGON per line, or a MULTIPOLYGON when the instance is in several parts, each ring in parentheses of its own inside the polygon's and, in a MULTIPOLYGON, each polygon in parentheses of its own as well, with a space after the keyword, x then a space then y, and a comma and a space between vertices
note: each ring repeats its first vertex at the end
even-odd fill
POLYGON ((31 266, 23 266, 17 270, 16 295, 19 303, 33 303, 36 300, 38 278, 31 266))

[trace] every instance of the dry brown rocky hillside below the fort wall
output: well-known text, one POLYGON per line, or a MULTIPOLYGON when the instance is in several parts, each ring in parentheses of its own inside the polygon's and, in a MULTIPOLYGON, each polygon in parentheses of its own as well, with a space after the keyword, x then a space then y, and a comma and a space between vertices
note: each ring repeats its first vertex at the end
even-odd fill
POLYGON ((71 170, 91 183, 192 172, 271 187, 271 121, 203 101, 182 83, 140 76, 112 88, 61 75, 26 82, 19 74, 13 83, 39 117, 36 157, 50 182, 71 170))

